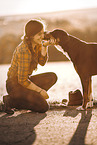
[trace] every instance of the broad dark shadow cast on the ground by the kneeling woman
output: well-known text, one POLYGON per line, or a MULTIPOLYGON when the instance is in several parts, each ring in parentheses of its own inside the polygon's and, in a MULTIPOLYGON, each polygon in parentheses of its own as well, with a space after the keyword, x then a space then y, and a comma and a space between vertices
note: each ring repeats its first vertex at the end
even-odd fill
POLYGON ((20 113, 14 116, 0 114, 0 144, 1 145, 30 145, 36 139, 34 127, 46 117, 46 113, 20 113))

